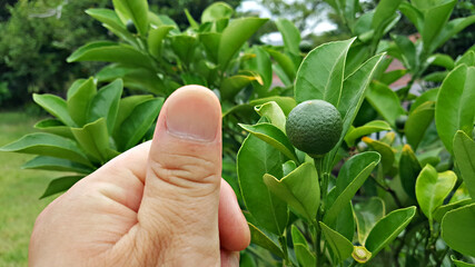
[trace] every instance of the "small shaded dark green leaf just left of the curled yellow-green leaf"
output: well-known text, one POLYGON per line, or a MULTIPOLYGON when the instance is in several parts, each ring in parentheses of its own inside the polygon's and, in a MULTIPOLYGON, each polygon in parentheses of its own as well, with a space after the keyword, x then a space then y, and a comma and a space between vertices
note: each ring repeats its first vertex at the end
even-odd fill
POLYGON ((422 171, 419 161, 409 145, 404 145, 399 159, 399 178, 406 194, 416 199, 416 180, 422 171))

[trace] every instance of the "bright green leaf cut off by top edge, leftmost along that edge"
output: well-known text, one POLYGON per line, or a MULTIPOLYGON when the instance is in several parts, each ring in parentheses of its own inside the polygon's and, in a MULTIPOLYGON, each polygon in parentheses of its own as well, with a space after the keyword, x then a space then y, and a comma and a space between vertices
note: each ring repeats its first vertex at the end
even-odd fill
POLYGON ((141 36, 148 32, 148 2, 147 0, 112 0, 119 17, 131 19, 141 36))

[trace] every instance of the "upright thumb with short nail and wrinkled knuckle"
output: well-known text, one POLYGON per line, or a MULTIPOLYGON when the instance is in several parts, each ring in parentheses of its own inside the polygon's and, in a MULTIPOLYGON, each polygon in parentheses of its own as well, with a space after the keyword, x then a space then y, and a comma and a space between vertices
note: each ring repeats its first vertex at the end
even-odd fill
POLYGON ((219 266, 221 110, 207 88, 165 102, 150 148, 139 227, 171 266, 219 266), (199 260, 199 261, 197 261, 199 260))

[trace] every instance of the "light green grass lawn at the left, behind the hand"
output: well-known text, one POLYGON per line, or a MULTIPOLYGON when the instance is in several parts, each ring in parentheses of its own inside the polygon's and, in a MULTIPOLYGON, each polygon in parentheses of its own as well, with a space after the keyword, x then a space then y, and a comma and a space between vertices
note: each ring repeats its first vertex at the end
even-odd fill
MULTIPOLYGON (((33 132, 39 119, 21 112, 0 112, 0 146, 33 132)), ((53 199, 39 200, 60 174, 21 170, 33 156, 0 152, 0 266, 27 266, 28 244, 36 217, 53 199)))

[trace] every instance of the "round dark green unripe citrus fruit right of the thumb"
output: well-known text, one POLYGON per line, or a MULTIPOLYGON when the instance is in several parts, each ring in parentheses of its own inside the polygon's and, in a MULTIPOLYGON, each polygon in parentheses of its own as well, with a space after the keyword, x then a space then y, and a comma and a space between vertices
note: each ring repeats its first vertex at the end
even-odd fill
POLYGON ((290 142, 311 157, 330 151, 338 142, 342 130, 342 116, 324 100, 299 103, 290 111, 286 122, 290 142))

